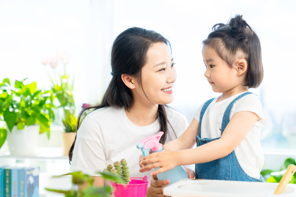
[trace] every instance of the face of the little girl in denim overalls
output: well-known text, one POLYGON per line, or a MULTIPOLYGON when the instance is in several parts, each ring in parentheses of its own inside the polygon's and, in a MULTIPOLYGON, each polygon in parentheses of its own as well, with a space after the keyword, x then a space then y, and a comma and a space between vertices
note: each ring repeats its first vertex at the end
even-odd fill
POLYGON ((227 92, 241 84, 238 72, 230 68, 213 48, 205 45, 202 57, 206 66, 205 77, 214 92, 227 92))

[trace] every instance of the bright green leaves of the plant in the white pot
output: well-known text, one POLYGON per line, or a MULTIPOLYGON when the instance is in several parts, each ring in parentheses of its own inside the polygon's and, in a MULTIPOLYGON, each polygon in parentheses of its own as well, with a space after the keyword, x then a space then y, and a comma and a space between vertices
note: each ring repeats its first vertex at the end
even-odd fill
MULTIPOLYGON (((25 85, 25 80, 15 80, 14 87, 7 78, 0 83, 0 120, 7 123, 10 131, 14 125, 24 129, 25 125, 40 124, 40 133, 46 131, 49 138, 49 125, 54 120, 54 96, 49 90, 37 89, 36 82, 25 85)), ((0 133, 5 136, 5 130, 1 129, 0 133)), ((1 137, 0 144, 2 141, 1 137)))

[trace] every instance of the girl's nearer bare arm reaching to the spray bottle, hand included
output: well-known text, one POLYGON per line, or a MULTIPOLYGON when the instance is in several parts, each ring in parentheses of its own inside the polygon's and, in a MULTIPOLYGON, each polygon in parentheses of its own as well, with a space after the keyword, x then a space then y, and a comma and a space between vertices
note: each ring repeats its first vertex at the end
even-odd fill
POLYGON ((157 175, 178 165, 199 164, 220 159, 230 154, 245 138, 255 122, 259 120, 261 118, 253 112, 237 112, 232 116, 220 139, 182 151, 173 151, 164 146, 164 151, 147 155, 141 164, 151 163, 144 166, 144 169, 160 167, 151 173, 157 175))

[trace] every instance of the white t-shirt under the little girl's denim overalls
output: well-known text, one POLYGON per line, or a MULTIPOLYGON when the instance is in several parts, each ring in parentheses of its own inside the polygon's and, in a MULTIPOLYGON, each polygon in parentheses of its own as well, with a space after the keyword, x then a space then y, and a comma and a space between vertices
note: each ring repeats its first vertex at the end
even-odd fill
MULTIPOLYGON (((247 92, 247 91, 246 91, 247 92)), ((218 138, 221 137, 221 125, 224 112, 231 101, 245 92, 229 97, 220 102, 216 102, 219 97, 215 98, 208 106, 202 117, 201 138, 218 138)), ((194 114, 194 118, 200 122, 200 111, 205 103, 200 105, 194 114)), ((257 121, 242 140, 234 149, 237 160, 247 175, 253 178, 260 178, 260 171, 263 167, 264 156, 260 144, 261 128, 265 126, 266 120, 263 116, 262 105, 257 95, 249 94, 237 100, 230 113, 230 119, 234 113, 240 111, 250 111, 257 114, 260 121, 257 121)))

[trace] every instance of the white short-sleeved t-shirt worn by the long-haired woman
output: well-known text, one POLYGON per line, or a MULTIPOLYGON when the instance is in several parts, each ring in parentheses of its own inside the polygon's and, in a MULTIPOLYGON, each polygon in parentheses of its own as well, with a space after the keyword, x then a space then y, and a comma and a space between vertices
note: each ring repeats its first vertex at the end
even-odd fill
MULTIPOLYGON (((165 109, 171 125, 168 127, 169 132, 172 139, 176 139, 189 126, 188 121, 178 111, 170 107, 165 109)), ((142 152, 136 145, 158 132, 159 118, 151 125, 135 126, 126 116, 124 108, 105 107, 94 110, 85 117, 78 129, 70 170, 100 176, 96 172, 102 172, 107 165, 126 159, 130 177, 147 176, 150 182, 151 171, 139 172, 139 157, 142 152)))

